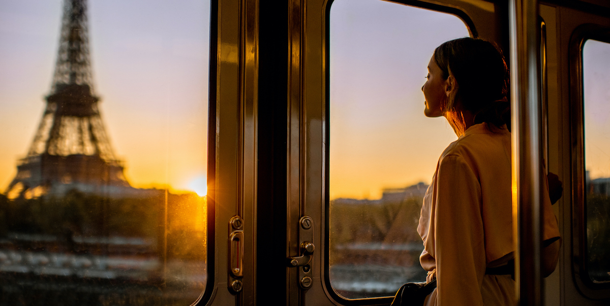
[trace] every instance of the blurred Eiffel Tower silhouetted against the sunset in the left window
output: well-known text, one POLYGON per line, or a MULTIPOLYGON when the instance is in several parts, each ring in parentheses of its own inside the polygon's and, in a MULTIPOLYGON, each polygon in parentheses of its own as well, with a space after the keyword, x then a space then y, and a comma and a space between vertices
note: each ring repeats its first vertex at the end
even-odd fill
POLYGON ((59 52, 46 109, 9 184, 12 197, 135 189, 110 146, 93 90, 86 0, 65 0, 59 52))

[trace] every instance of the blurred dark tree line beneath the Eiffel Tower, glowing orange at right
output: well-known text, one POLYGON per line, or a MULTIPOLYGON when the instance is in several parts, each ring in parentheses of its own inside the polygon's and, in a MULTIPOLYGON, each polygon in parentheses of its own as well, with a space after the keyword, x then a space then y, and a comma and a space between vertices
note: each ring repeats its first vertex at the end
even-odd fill
POLYGON ((168 193, 165 200, 164 190, 116 199, 77 190, 37 199, 0 194, 0 235, 52 235, 68 244, 73 237, 143 238, 157 254, 167 239, 168 258, 205 258, 206 198, 168 193))

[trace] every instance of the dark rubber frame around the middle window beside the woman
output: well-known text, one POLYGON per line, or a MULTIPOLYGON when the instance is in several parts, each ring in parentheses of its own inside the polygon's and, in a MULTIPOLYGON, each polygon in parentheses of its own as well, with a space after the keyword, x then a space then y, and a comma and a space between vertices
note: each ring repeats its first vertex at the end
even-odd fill
MULTIPOLYGON (((386 1, 386 0, 370 0, 370 1, 386 1)), ((326 62, 326 66, 325 69, 323 71, 323 73, 325 74, 325 90, 324 90, 324 95, 325 95, 325 103, 323 105, 323 117, 325 118, 325 122, 323 123, 324 126, 324 138, 325 141, 323 143, 323 201, 324 201, 324 229, 323 229, 323 240, 324 242, 324 254, 323 254, 323 284, 326 288, 326 293, 331 297, 332 300, 339 302, 342 305, 389 305, 394 296, 382 296, 382 297, 368 297, 368 298, 361 298, 361 299, 346 299, 345 297, 341 296, 339 293, 337 293, 337 291, 335 291, 335 289, 332 287, 331 285, 331 280, 330 280, 330 259, 329 259, 329 251, 330 251, 330 215, 329 215, 329 211, 330 211, 330 198, 329 198, 329 188, 330 188, 330 167, 329 165, 329 160, 330 160, 330 89, 331 89, 331 84, 330 84, 330 71, 331 71, 331 59, 330 59, 330 43, 328 43, 329 38, 331 37, 330 35, 330 31, 331 31, 331 27, 330 27, 330 18, 331 18, 331 8, 332 8, 332 3, 334 2, 334 0, 328 0, 326 2, 325 5, 325 36, 326 36, 326 40, 327 43, 325 43, 324 45, 324 52, 325 54, 323 55, 325 58, 325 62, 326 62)), ((449 7, 449 6, 444 6, 444 5, 440 5, 440 4, 433 4, 433 3, 429 3, 429 2, 424 2, 424 1, 409 1, 409 0, 397 0, 397 1, 387 1, 387 2, 393 2, 396 4, 401 4, 401 5, 407 5, 407 6, 411 6, 411 7, 416 7, 418 9, 427 9, 427 10, 434 10, 436 12, 440 12, 440 13, 448 13, 451 15, 454 15, 456 17, 458 17, 460 20, 462 20, 462 22, 464 22, 464 25, 466 26, 468 33, 470 34, 470 37, 472 38, 478 38, 479 34, 478 31, 476 30, 475 24, 472 21, 472 18, 470 18, 470 16, 465 13, 464 10, 458 8, 458 7, 449 7)))

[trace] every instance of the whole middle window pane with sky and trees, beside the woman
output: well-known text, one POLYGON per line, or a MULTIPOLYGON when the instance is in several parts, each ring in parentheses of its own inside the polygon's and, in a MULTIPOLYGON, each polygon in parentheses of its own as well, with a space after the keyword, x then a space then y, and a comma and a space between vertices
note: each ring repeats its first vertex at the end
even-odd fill
POLYGON ((467 37, 450 13, 386 1, 330 9, 328 277, 346 299, 424 281, 417 224, 437 160, 456 135, 426 118, 422 85, 441 43, 467 37))

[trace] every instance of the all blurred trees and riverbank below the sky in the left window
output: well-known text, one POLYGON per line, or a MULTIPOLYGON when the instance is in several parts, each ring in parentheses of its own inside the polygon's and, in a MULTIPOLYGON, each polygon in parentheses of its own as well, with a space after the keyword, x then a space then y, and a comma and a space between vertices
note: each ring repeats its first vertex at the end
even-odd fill
POLYGON ((206 197, 137 194, 110 198, 72 190, 12 200, 0 194, 0 265, 28 269, 0 271, 0 306, 192 304, 206 282, 206 197), (42 257, 45 263, 33 259, 42 257), (79 274, 85 270, 117 274, 79 274))

